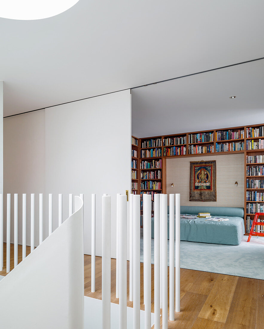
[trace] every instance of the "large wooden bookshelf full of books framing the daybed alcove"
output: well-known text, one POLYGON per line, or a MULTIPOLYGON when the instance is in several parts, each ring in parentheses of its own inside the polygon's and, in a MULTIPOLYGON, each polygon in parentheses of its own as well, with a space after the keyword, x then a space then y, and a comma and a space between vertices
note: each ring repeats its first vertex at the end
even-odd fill
MULTIPOLYGON (((244 209, 245 209, 245 234, 248 235, 247 232, 247 216, 250 216, 253 219, 254 214, 247 214, 247 203, 249 201, 246 200, 247 192, 255 191, 258 193, 264 192, 264 189, 247 189, 247 179, 253 177, 255 180, 263 180, 263 176, 250 176, 247 177, 247 166, 255 167, 256 165, 264 165, 264 136, 262 135, 262 131, 258 131, 259 127, 263 127, 264 124, 250 125, 250 126, 238 126, 231 128, 221 128, 214 130, 204 130, 204 131, 196 131, 196 132, 188 132, 181 134, 171 134, 164 136, 154 136, 149 138, 141 138, 138 141, 139 146, 139 193, 143 195, 143 192, 152 192, 154 193, 164 193, 166 194, 166 159, 167 158, 181 158, 181 157, 197 157, 201 155, 221 155, 221 154, 245 154, 245 200, 244 200, 244 209), (160 139, 161 143, 159 145, 150 146, 146 142, 151 139, 160 139), (263 148, 261 149, 251 149, 248 150, 248 146, 250 145, 255 147, 260 145, 263 148), (253 144, 252 144, 253 141, 253 144), (142 142, 144 145, 142 145, 142 142), (255 142, 255 144, 254 144, 255 142), (261 144, 262 143, 262 144, 261 144), (143 147, 144 146, 144 147, 143 147), (152 151, 152 156, 146 157, 149 155, 151 149, 160 148, 160 155, 156 156, 152 151), (195 150, 195 151, 194 151, 195 150), (141 151, 148 151, 148 153, 141 153, 141 151), (195 154, 192 154, 192 151, 195 154), (196 153, 197 152, 197 153, 196 153), (143 157, 143 156, 144 157, 143 157), (155 155, 155 156, 154 156, 155 155), (247 156, 258 156, 263 155, 263 160, 260 163, 249 163, 247 164, 247 156), (145 168, 142 166, 144 162, 153 163, 153 161, 158 161, 160 168, 145 168), (161 170, 161 177, 159 179, 150 179, 143 178, 144 173, 146 172, 156 172, 161 170), (160 183, 159 189, 144 189, 141 187, 145 187, 145 185, 141 185, 144 182, 157 182, 160 183)), ((252 202, 254 204, 263 203, 263 202, 252 202)), ((153 213, 153 211, 152 211, 153 213)), ((141 210, 141 214, 143 215, 143 208, 141 210)), ((263 218, 264 219, 264 218, 263 218)))

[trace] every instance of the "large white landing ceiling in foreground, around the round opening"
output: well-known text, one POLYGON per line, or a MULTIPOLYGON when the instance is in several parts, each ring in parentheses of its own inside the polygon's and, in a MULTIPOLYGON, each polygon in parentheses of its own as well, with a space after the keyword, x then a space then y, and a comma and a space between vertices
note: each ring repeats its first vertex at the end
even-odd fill
POLYGON ((262 57, 263 12, 262 0, 80 0, 0 18, 4 115, 262 57))

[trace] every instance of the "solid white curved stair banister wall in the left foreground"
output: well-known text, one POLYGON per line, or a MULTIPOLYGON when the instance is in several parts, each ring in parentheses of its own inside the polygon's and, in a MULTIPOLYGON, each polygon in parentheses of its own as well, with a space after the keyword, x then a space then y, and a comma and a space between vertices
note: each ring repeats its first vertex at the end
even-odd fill
POLYGON ((0 281, 1 328, 84 328, 82 208, 0 281))

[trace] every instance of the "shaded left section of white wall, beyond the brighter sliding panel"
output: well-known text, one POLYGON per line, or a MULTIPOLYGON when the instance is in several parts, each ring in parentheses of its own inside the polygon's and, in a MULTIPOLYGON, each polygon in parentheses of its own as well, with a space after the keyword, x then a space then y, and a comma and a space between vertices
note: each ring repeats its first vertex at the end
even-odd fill
MULTIPOLYGON (((27 245, 30 245, 30 193, 45 193, 44 146, 45 110, 4 119, 4 192, 19 193, 19 244, 22 244, 22 193, 27 193, 27 245)), ((35 218, 38 218, 38 195, 35 195, 35 201, 35 218)), ((13 242, 13 202, 11 196, 11 242, 13 242)), ((4 195, 4 209, 6 209, 6 195, 4 195)), ((4 223, 6 223, 5 219, 4 223)), ((38 228, 38 220, 36 220, 36 246, 39 241, 38 228)))

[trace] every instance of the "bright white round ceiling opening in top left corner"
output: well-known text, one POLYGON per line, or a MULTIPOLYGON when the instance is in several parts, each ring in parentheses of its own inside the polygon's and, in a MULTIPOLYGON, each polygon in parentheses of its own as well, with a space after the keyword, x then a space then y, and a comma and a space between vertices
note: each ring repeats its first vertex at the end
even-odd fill
POLYGON ((65 12, 79 0, 5 0, 1 1, 0 17, 32 20, 65 12))

